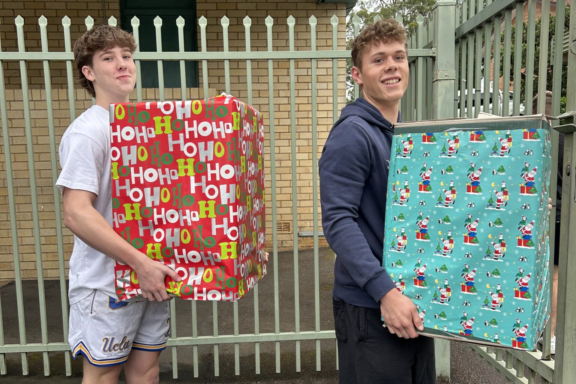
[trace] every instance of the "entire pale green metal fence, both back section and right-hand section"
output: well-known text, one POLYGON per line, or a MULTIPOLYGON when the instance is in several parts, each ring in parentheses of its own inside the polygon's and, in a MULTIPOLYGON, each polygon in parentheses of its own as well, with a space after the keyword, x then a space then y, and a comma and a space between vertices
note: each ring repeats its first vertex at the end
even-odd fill
MULTIPOLYGON (((526 78, 532 79, 534 66, 533 60, 535 52, 531 48, 535 41, 535 9, 537 0, 528 0, 528 57, 526 64, 526 78)), ((542 1, 542 28, 547 25, 547 20, 550 17, 550 0, 542 1)), ((401 100, 401 112, 405 121, 408 120, 423 120, 435 119, 443 117, 454 116, 468 116, 475 117, 480 110, 490 111, 499 115, 518 115, 521 112, 521 97, 520 87, 514 87, 512 94, 512 106, 510 105, 510 62, 511 62, 511 20, 514 12, 522 11, 524 6, 523 1, 516 0, 497 0, 491 2, 486 0, 486 3, 478 2, 475 5, 475 0, 463 1, 461 4, 456 5, 453 0, 440 0, 433 9, 432 17, 425 20, 424 17, 419 16, 417 19, 416 31, 411 31, 408 36, 408 56, 410 57, 410 85, 405 96, 401 100), (502 20, 503 19, 503 20, 502 20), (503 26, 502 26, 503 24, 503 26), (501 41, 501 32, 504 32, 503 42, 501 41), (492 36, 494 36, 492 38, 492 36), (503 45, 503 63, 501 65, 501 52, 500 46, 503 45), (496 47, 493 52, 490 47, 496 47), (491 60, 494 60, 494 65, 490 65, 491 60), (500 70, 503 71, 502 78, 504 85, 502 89, 502 107, 499 102, 494 102, 494 107, 490 108, 489 105, 482 105, 483 92, 482 89, 490 89, 490 78, 493 79, 493 88, 499 88, 499 79, 501 78, 500 70), (476 108, 466 108, 466 106, 478 106, 476 108), (482 107, 480 107, 482 105, 482 107), (511 113, 510 113, 511 110, 511 113)), ((556 2, 555 12, 557 17, 564 14, 564 0, 556 2)), ((563 19, 563 17, 562 17, 563 19)), ((568 95, 566 100, 567 110, 576 109, 576 17, 571 14, 571 28, 569 31, 564 31, 563 24, 556 23, 555 36, 564 36, 569 32, 567 44, 555 44, 552 46, 554 55, 548 54, 549 40, 548 35, 541 34, 540 36, 540 56, 539 56, 539 78, 544 78, 547 75, 547 60, 554 59, 553 89, 554 92, 554 109, 553 114, 559 115, 559 100, 560 100, 560 85, 562 72, 558 70, 561 67, 562 59, 564 56, 569 58, 569 79, 568 84, 571 85, 567 88, 568 95), (566 51, 565 55, 564 51, 566 51), (558 65, 560 64, 560 65, 558 65)), ((109 24, 115 25, 115 18, 109 19, 109 24)), ((208 94, 209 90, 209 73, 207 70, 207 63, 209 60, 223 61, 225 68, 225 91, 230 92, 230 60, 242 60, 246 63, 246 81, 248 86, 248 103, 252 104, 252 62, 255 60, 266 60, 268 64, 268 104, 269 104, 269 120, 270 120, 270 172, 268 177, 271 181, 271 216, 272 216, 272 250, 271 258, 276 261, 278 257, 278 233, 276 230, 276 158, 275 158, 275 99, 274 99, 274 79, 272 77, 274 69, 274 60, 289 60, 290 77, 290 134, 291 134, 291 187, 292 187, 292 207, 293 209, 293 241, 294 241, 294 279, 298 281, 298 212, 297 207, 297 179, 296 179, 296 112, 295 112, 295 62, 296 60, 309 60, 311 64, 311 82, 310 88, 312 90, 312 164, 314 172, 312 172, 313 183, 313 247, 314 247, 314 329, 302 330, 300 327, 300 291, 298 284, 294 284, 294 329, 290 332, 281 332, 280 318, 279 318, 279 273, 278 263, 274 262, 272 276, 268 278, 274 279, 274 332, 262 333, 260 332, 259 325, 259 300, 260 294, 258 287, 254 289, 254 331, 252 333, 239 333, 238 326, 238 303, 233 304, 233 334, 218 334, 218 305, 213 302, 213 334, 210 336, 198 335, 198 319, 196 311, 196 303, 192 301, 191 317, 192 317, 192 336, 190 337, 177 337, 177 329, 173 326, 172 338, 168 341, 168 345, 172 350, 172 364, 173 376, 178 375, 178 356, 177 346, 192 345, 193 348, 193 366, 195 377, 198 377, 199 361, 198 361, 198 346, 199 345, 213 345, 214 349, 214 375, 219 375, 219 344, 233 344, 235 356, 235 372, 240 374, 240 343, 250 343, 255 348, 255 367, 256 373, 260 372, 260 343, 266 341, 275 342, 275 360, 276 372, 281 370, 281 352, 280 342, 286 340, 295 341, 295 370, 301 370, 300 360, 300 341, 301 340, 316 340, 316 369, 320 370, 320 340, 335 339, 335 333, 332 329, 321 329, 320 327, 320 296, 319 296, 319 222, 317 212, 317 76, 316 70, 319 60, 332 60, 332 111, 334 121, 338 118, 338 90, 344 88, 344 84, 338 83, 338 60, 350 57, 350 51, 338 50, 338 17, 331 18, 332 25, 332 50, 318 51, 316 50, 316 25, 317 19, 312 16, 309 18, 309 31, 310 31, 310 50, 295 50, 294 48, 294 25, 295 19, 290 16, 286 20, 289 29, 289 50, 288 51, 274 51, 272 49, 273 37, 272 27, 274 20, 268 16, 266 18, 267 28, 267 51, 251 51, 250 31, 252 21, 249 17, 244 19, 245 26, 245 51, 229 52, 228 41, 228 27, 229 20, 226 16, 222 17, 220 24, 223 32, 223 51, 212 52, 207 51, 206 44, 206 26, 207 20, 204 17, 199 19, 201 50, 200 52, 185 52, 183 42, 183 28, 184 20, 179 18, 176 21, 178 27, 179 39, 179 52, 162 52, 161 46, 161 33, 162 33, 162 20, 157 17, 154 20, 154 27, 156 28, 157 36, 157 51, 156 52, 135 52, 134 59, 137 67, 137 75, 141 76, 140 64, 141 60, 156 60, 158 65, 158 79, 160 100, 164 100, 164 70, 162 67, 162 60, 178 60, 180 63, 180 79, 181 79, 181 94, 185 95, 185 61, 195 60, 202 62, 202 79, 204 94, 208 94)), ((36 177, 35 177, 35 159, 32 140, 32 124, 31 124, 31 110, 29 107, 28 96, 28 77, 26 75, 26 64, 28 62, 43 62, 44 78, 46 88, 46 101, 48 112, 48 130, 50 135, 50 153, 52 164, 52 180, 56 181, 58 174, 58 165, 56 162, 56 136, 54 132, 54 116, 52 112, 52 94, 51 94, 51 78, 50 78, 50 63, 52 62, 65 62, 67 70, 67 91, 69 95, 70 106, 70 119, 75 118, 75 100, 74 100, 74 81, 72 71, 73 54, 71 53, 70 41, 70 19, 63 18, 62 26, 64 31, 65 51, 64 52, 50 52, 48 51, 47 44, 47 20, 40 17, 38 24, 40 26, 42 52, 26 52, 24 45, 24 20, 18 16, 16 18, 16 28, 18 36, 18 52, 5 52, 0 50, 0 109, 2 111, 2 135, 3 135, 3 151, 5 153, 5 167, 7 177, 7 191, 8 202, 10 211, 10 229, 12 231, 12 246, 14 253, 14 272, 16 282, 16 295, 17 305, 16 308, 9 308, 10 311, 17 311, 19 324, 19 337, 20 343, 18 344, 5 344, 3 324, 2 324, 2 307, 0 306, 0 374, 6 374, 6 360, 5 353, 20 353, 22 361, 22 374, 28 374, 28 357, 27 352, 42 352, 44 363, 44 374, 50 375, 50 361, 48 359, 48 352, 62 351, 65 355, 66 374, 71 374, 71 360, 69 345, 67 344, 67 325, 68 325, 68 307, 67 307, 67 292, 66 292, 66 276, 65 276, 65 257, 63 251, 63 235, 62 235, 62 218, 60 211, 56 209, 56 237, 58 244, 58 263, 59 263, 59 282, 60 282, 60 301, 62 302, 62 326, 63 334, 62 341, 48 342, 48 321, 46 318, 46 300, 44 298, 44 279, 43 279, 43 260, 40 249, 40 223, 39 212, 36 193, 36 177), (30 173, 30 186, 31 186, 31 200, 32 200, 32 221, 33 233, 36 239, 36 269, 38 276, 38 291, 39 291, 39 305, 40 305, 40 322, 41 322, 41 343, 27 343, 26 342, 26 329, 24 323, 24 299, 22 295, 22 273, 20 268, 20 255, 18 251, 18 222, 16 219, 16 203, 14 200, 14 177, 11 154, 10 154, 10 131, 7 117, 7 102, 5 90, 5 78, 3 72, 2 62, 7 60, 16 60, 20 63, 20 76, 21 76, 21 89, 24 104, 24 120, 25 120, 25 134, 26 134, 26 150, 28 153, 28 169, 30 173)), ((133 18, 131 21, 132 28, 134 29, 134 37, 138 42, 138 18, 133 18)), ((359 20, 353 20, 354 35, 358 34, 359 20)), ((517 21, 517 25, 521 26, 521 20, 517 21)), ((86 18, 86 28, 92 28, 93 19, 86 18)), ((547 28, 547 27, 546 27, 547 28)), ((521 33, 517 32, 515 41, 521 39, 521 33)), ((564 42, 564 39, 555 39, 556 41, 564 42)), ((1 43, 1 42, 0 42, 1 43)), ((520 79, 522 77, 520 50, 515 52, 514 68, 512 79, 520 79)), ((517 82, 515 82, 517 83, 517 82)), ((529 114, 532 112, 531 100, 533 95, 532 81, 525 81, 525 100, 524 112, 529 114)), ((541 95, 545 90, 545 82, 539 83, 538 94, 541 95)), ((354 96, 358 97, 358 86, 355 86, 354 96)), ((183 96, 184 97, 184 96, 183 96)), ((141 83, 137 83, 137 100, 142 101, 143 93, 141 83)), ((539 98, 538 111, 544 111, 544 98, 539 98)), ((535 111, 536 112, 536 111, 535 111)), ((566 120, 569 121, 569 120, 566 120)), ((570 127, 564 124, 564 131, 569 132, 570 127)), ((572 131, 570 131, 572 132, 572 131)), ((566 136, 566 151, 565 151, 565 166, 570 164, 571 149, 573 144, 572 134, 566 136)), ((554 136, 554 156, 557 156, 557 142, 558 135, 554 136)), ((569 171, 568 171, 569 172, 569 171)), ((554 173, 552 173, 554 174, 554 173)), ((570 178, 570 174, 564 174, 563 188, 566 189, 564 196, 564 210, 562 221, 569 224, 569 219, 573 215, 573 210, 576 209, 576 200, 571 201, 569 196, 574 193, 570 188, 574 188, 576 184, 570 178), (570 202, 569 202, 570 200, 570 202)), ((552 196, 555 193, 555 185, 552 186, 552 196)), ((56 207, 60 206, 58 189, 54 188, 54 204, 56 207)), ((498 370, 501 370, 507 378, 517 383, 535 382, 536 375, 548 382, 556 383, 569 383, 570 379, 576 377, 576 364, 573 364, 576 359, 576 342, 574 341, 574 329, 576 329, 576 316, 574 309, 566 306, 567 299, 574 297, 574 288, 566 285, 567 279, 573 279, 576 275, 576 261, 567 258, 568 249, 576 249, 576 244, 571 243, 570 240, 574 239, 574 235, 568 232, 570 226, 563 226, 562 239, 567 242, 569 248, 563 248, 560 261, 560 267, 563 271, 560 273, 560 292, 559 292, 559 317, 558 317, 558 351, 556 352, 556 361, 558 366, 556 374, 554 372, 554 360, 550 360, 550 330, 547 330, 545 337, 545 353, 540 352, 522 352, 511 351, 503 353, 502 349, 492 350, 491 348, 473 347, 486 358, 490 363, 494 364, 498 370), (570 331, 570 332, 568 332, 570 331), (503 355, 506 356, 504 362, 503 355), (517 359, 516 371, 511 370, 513 367, 513 358, 517 359), (564 361, 569 362, 564 364, 564 361), (528 367, 528 378, 524 378, 524 368, 528 367), (563 378, 567 378, 564 379, 563 378)), ((551 237, 553 238, 554 228, 551 228, 551 237)), ((574 281, 574 280, 568 280, 574 281)), ((1 305, 1 301, 0 301, 1 305)), ((170 303, 172 311, 172 319, 175 320, 175 302, 170 303)), ((4 309, 6 310, 6 308, 4 309)), ((312 310, 312 309, 306 309, 312 310)), ((173 322, 175 324, 175 321, 173 322)), ((437 370, 439 375, 449 377, 450 374, 450 360, 449 360, 449 344, 445 341, 438 341, 437 343, 437 370)), ((336 362, 337 364, 337 362, 336 362)))

